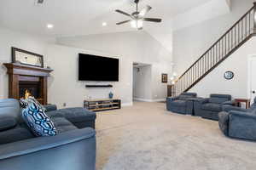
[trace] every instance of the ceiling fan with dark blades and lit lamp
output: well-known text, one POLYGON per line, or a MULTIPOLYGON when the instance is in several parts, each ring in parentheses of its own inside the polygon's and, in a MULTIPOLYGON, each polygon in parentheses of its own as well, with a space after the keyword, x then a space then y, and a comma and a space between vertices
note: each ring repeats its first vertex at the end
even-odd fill
POLYGON ((116 23, 116 25, 122 25, 125 23, 131 23, 131 27, 133 28, 137 28, 138 30, 142 30, 143 29, 143 21, 149 21, 149 22, 161 22, 161 19, 155 19, 155 18, 145 18, 145 14, 148 13, 148 11, 152 8, 150 6, 146 6, 145 8, 143 8, 140 12, 138 11, 138 3, 139 0, 135 0, 134 3, 136 3, 136 11, 133 12, 132 14, 128 14, 125 13, 122 10, 115 10, 117 13, 119 14, 125 14, 126 16, 129 16, 131 19, 130 20, 125 20, 119 23, 116 23))

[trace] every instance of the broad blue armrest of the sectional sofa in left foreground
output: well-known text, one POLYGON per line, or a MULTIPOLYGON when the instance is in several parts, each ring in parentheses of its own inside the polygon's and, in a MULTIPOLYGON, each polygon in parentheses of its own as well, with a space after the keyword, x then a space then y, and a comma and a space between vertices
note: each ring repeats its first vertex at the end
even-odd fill
POLYGON ((92 128, 84 128, 2 144, 0 169, 95 169, 95 134, 92 128))

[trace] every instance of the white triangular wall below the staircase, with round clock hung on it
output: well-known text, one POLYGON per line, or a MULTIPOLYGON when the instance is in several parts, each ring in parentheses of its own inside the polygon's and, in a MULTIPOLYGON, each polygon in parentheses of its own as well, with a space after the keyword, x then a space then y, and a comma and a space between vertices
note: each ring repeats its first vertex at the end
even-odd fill
POLYGON ((231 94, 233 98, 250 98, 248 58, 256 55, 255 46, 256 37, 253 37, 189 91, 196 92, 201 97, 208 97, 209 94, 231 94), (233 71, 235 77, 232 80, 224 79, 225 71, 233 71))

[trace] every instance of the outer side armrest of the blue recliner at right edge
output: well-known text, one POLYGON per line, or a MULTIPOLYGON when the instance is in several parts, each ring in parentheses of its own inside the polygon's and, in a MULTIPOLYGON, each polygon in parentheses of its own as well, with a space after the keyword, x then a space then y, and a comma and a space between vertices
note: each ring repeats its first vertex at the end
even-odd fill
POLYGON ((230 111, 229 135, 239 139, 256 139, 256 115, 248 112, 230 111))

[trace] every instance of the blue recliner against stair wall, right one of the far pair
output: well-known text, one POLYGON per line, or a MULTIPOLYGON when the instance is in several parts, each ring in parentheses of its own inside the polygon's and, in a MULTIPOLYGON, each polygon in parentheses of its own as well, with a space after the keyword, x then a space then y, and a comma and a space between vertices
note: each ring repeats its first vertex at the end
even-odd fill
POLYGON ((232 105, 231 95, 211 94, 208 99, 201 99, 194 104, 195 116, 218 121, 218 112, 222 111, 223 105, 232 105))

